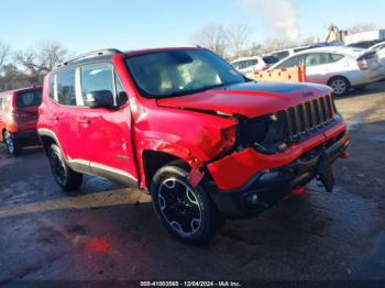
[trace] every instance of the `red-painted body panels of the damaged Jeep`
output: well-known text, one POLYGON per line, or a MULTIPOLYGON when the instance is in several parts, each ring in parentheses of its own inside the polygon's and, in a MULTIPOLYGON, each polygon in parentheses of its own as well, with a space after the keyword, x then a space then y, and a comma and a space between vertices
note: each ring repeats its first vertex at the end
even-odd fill
MULTIPOLYGON (((152 151, 178 157, 188 163, 193 170, 207 165, 215 182, 222 190, 237 189, 258 171, 289 164, 327 139, 345 131, 344 123, 341 123, 323 134, 292 145, 284 153, 265 155, 245 148, 213 162, 213 158, 234 145, 238 120, 231 114, 250 118, 264 115, 324 96, 331 90, 323 86, 301 86, 283 93, 223 89, 160 100, 144 98, 131 79, 124 57, 166 49, 170 48, 112 56, 112 65, 129 96, 129 103, 118 111, 57 104, 50 98, 50 74, 44 82, 38 129, 55 133, 67 159, 87 159, 124 170, 138 179, 141 188, 150 188, 146 187, 143 153, 152 151), (312 96, 305 99, 305 91, 312 96), (200 113, 197 110, 210 110, 230 117, 200 113)), ((348 141, 348 136, 344 141, 348 141)), ((191 180, 198 181, 200 176, 194 170, 191 180)))

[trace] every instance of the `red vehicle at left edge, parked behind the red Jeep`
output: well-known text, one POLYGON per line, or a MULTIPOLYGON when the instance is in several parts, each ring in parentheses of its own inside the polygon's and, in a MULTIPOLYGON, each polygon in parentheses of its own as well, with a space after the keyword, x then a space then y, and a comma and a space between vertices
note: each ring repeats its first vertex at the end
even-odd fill
POLYGON ((29 144, 38 143, 37 109, 42 102, 42 87, 0 92, 0 141, 11 155, 29 144))

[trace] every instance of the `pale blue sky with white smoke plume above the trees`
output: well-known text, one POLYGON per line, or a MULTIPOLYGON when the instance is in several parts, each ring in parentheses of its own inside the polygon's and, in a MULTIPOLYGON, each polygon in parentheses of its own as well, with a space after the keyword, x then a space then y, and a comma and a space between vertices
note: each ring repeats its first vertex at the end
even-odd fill
POLYGON ((255 43, 280 34, 323 41, 331 23, 385 27, 384 12, 384 0, 0 0, 0 41, 14 49, 40 41, 77 53, 132 49, 190 43, 208 23, 245 23, 255 43))

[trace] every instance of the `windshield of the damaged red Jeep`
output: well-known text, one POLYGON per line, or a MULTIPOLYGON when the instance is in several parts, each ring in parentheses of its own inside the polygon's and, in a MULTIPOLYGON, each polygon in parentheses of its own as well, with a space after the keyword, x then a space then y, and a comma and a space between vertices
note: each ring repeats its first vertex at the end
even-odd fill
POLYGON ((139 90, 146 97, 182 96, 244 82, 245 78, 206 49, 175 49, 125 58, 139 90))

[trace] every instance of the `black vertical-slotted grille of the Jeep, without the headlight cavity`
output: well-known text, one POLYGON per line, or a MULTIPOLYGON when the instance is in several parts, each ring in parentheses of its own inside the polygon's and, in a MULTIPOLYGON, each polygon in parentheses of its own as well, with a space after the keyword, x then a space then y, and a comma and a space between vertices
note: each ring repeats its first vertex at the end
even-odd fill
POLYGON ((331 96, 320 97, 296 107, 290 107, 277 113, 282 136, 284 139, 295 139, 314 131, 332 121, 334 113, 331 96))

